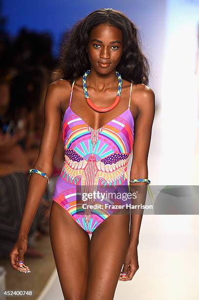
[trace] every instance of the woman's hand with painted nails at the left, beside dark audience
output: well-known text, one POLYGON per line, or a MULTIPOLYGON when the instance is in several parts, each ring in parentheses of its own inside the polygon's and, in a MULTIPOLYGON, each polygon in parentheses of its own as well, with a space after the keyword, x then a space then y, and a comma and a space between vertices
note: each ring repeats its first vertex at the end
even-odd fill
POLYGON ((27 239, 18 239, 9 253, 10 264, 14 270, 30 273, 30 269, 23 264, 23 255, 27 250, 27 239))

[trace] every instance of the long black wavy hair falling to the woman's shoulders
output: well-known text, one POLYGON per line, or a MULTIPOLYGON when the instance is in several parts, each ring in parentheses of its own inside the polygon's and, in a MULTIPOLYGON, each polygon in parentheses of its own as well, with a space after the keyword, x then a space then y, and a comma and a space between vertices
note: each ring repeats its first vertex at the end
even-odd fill
POLYGON ((137 27, 125 14, 112 8, 97 9, 72 26, 61 47, 58 77, 70 79, 72 83, 90 69, 86 49, 91 30, 99 24, 118 27, 123 33, 123 53, 116 71, 130 82, 147 85, 149 62, 141 50, 137 27))

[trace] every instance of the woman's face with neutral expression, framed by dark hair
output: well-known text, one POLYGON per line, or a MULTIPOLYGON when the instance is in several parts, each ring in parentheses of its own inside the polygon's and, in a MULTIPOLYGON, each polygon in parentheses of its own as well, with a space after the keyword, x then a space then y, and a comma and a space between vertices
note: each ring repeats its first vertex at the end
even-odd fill
POLYGON ((123 34, 118 27, 100 24, 91 30, 88 58, 96 72, 109 74, 116 69, 123 50, 123 34))

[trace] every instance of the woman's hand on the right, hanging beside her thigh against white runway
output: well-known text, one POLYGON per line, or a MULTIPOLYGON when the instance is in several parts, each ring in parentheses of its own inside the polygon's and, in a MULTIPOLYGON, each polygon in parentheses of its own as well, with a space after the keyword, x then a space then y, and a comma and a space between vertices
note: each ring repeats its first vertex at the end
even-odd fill
POLYGON ((120 273, 120 281, 132 280, 135 272, 139 269, 137 247, 129 247, 124 261, 122 272, 120 273))

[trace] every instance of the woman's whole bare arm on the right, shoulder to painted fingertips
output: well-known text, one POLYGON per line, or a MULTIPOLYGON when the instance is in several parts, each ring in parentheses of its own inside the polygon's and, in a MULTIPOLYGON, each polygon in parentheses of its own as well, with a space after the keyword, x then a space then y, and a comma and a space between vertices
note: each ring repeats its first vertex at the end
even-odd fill
MULTIPOLYGON (((133 109, 137 108, 134 124, 133 160, 130 179, 148 179, 147 159, 151 142, 152 125, 155 116, 155 94, 144 84, 136 86, 133 93, 133 109)), ((144 204, 146 200, 147 183, 130 184, 131 193, 136 192, 136 199, 132 204, 144 204), (138 192, 138 193, 137 193, 138 192)), ((126 253, 120 281, 132 280, 139 268, 137 246, 142 221, 143 209, 131 212, 130 244, 126 253)))

